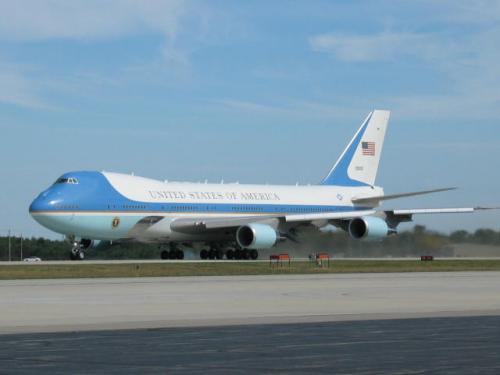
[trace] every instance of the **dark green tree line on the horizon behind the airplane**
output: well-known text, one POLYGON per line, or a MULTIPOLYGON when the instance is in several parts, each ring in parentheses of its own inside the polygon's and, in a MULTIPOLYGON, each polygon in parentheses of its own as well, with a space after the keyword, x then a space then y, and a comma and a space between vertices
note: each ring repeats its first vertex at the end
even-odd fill
MULTIPOLYGON (((68 259, 71 243, 65 240, 46 238, 11 237, 11 259, 20 260, 36 256, 44 260, 68 259), (22 251, 22 255, 21 255, 22 251)), ((278 245, 277 250, 289 251, 296 255, 307 256, 315 252, 330 252, 346 257, 379 256, 452 256, 453 245, 461 243, 500 246, 500 231, 478 229, 474 232, 465 230, 443 234, 416 225, 412 230, 389 236, 380 242, 364 242, 351 239, 344 231, 334 231, 306 235, 297 243, 287 241, 278 245)), ((155 259, 160 250, 158 245, 127 243, 116 244, 107 249, 88 250, 88 259, 155 259)), ((264 254, 264 252, 262 252, 264 254)), ((0 237, 0 261, 9 260, 9 239, 0 237)))

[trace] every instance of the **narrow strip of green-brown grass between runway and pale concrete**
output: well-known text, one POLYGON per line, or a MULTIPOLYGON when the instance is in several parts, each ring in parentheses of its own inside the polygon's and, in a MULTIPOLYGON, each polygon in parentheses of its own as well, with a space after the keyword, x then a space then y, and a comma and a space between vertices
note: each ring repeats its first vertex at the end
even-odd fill
POLYGON ((226 276, 274 274, 322 274, 366 272, 500 271, 500 260, 333 260, 329 267, 309 262, 270 267, 266 262, 207 263, 112 263, 112 264, 22 264, 0 265, 0 279, 226 276))

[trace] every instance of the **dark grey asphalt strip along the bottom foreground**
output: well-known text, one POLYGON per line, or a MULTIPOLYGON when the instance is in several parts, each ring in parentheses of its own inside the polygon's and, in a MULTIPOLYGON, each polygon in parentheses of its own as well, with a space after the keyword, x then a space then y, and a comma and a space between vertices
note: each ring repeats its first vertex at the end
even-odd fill
POLYGON ((0 336, 8 374, 500 373, 500 317, 0 336))

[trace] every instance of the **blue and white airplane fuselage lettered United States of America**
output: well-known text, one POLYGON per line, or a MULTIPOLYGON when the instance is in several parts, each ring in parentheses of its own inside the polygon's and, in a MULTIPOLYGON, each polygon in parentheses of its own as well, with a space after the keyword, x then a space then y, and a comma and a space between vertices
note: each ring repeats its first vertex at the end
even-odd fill
POLYGON ((382 193, 381 188, 370 186, 162 182, 82 171, 61 176, 33 201, 30 214, 43 226, 68 236, 183 241, 200 235, 169 230, 172 220, 365 211, 370 207, 353 205, 352 198, 382 193), (141 220, 150 217, 162 217, 161 228, 134 231, 141 220))

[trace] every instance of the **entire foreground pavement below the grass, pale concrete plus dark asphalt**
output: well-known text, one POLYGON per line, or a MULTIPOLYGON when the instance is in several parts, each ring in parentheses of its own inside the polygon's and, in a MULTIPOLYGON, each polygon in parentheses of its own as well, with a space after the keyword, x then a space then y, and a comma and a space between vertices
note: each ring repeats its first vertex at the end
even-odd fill
POLYGON ((500 373, 500 272, 0 281, 0 373, 500 373))

